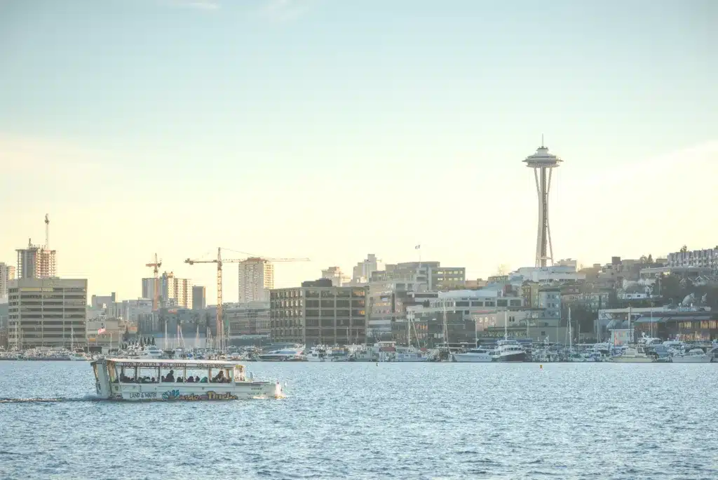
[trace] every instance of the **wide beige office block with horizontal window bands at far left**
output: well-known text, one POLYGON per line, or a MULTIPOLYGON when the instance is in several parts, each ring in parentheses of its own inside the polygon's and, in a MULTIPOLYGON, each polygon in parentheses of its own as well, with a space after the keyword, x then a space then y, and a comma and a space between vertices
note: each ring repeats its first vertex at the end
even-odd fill
POLYGON ((19 278, 9 286, 8 343, 17 349, 84 348, 88 281, 19 278))

